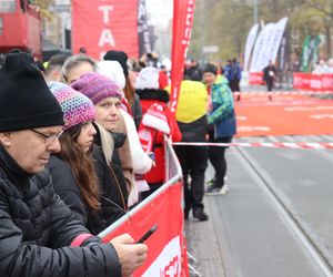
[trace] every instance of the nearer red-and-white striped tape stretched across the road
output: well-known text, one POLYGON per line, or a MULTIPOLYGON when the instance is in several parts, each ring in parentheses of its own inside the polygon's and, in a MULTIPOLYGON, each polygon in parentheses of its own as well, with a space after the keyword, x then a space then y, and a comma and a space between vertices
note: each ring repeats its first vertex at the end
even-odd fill
POLYGON ((176 142, 173 145, 186 146, 240 146, 240 147, 270 147, 270 148, 297 148, 297 150, 333 150, 332 142, 232 142, 232 143, 209 143, 209 142, 176 142))

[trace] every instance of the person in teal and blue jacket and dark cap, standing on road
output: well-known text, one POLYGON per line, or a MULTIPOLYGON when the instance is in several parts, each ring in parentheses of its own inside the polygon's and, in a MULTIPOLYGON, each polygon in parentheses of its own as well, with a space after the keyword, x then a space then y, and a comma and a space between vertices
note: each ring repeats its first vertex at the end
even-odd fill
MULTIPOLYGON (((236 133, 236 120, 233 106, 233 96, 225 83, 216 83, 218 68, 206 64, 203 69, 203 80, 210 94, 209 115, 210 124, 209 141, 212 143, 230 143, 236 133)), ((208 187, 208 195, 225 194, 224 184, 226 173, 225 146, 210 146, 209 158, 215 170, 213 184, 208 187)))

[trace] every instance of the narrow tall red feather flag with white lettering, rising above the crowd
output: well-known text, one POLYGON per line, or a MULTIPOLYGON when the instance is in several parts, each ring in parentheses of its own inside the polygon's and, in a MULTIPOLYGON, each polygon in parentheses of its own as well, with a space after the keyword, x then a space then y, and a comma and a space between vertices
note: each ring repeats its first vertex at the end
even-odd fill
POLYGON ((194 17, 194 0, 173 1, 173 30, 172 30, 172 69, 170 107, 175 113, 179 90, 184 72, 184 61, 191 39, 194 17))

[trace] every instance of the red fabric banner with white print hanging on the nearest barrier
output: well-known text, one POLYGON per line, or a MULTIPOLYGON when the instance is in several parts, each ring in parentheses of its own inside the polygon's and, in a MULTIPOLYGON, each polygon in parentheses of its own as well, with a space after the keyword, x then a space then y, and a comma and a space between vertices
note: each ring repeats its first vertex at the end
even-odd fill
POLYGON ((135 276, 183 277, 188 274, 186 249, 183 236, 182 184, 169 186, 137 213, 130 215, 114 230, 103 236, 104 242, 128 233, 138 240, 153 225, 157 232, 145 240, 147 261, 135 276))

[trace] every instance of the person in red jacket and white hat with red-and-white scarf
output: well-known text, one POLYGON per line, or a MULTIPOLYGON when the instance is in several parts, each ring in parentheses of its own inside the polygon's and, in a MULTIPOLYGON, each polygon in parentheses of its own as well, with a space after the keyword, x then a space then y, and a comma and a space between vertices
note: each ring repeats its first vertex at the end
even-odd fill
POLYGON ((173 142, 179 142, 182 135, 174 114, 168 107, 169 94, 165 90, 160 89, 159 70, 151 66, 142 69, 135 88, 143 111, 139 129, 141 144, 147 152, 153 152, 155 156, 155 167, 145 174, 150 186, 150 191, 142 193, 142 197, 145 198, 165 182, 163 135, 169 135, 173 142), (148 133, 150 134, 149 140, 145 135, 148 133))

